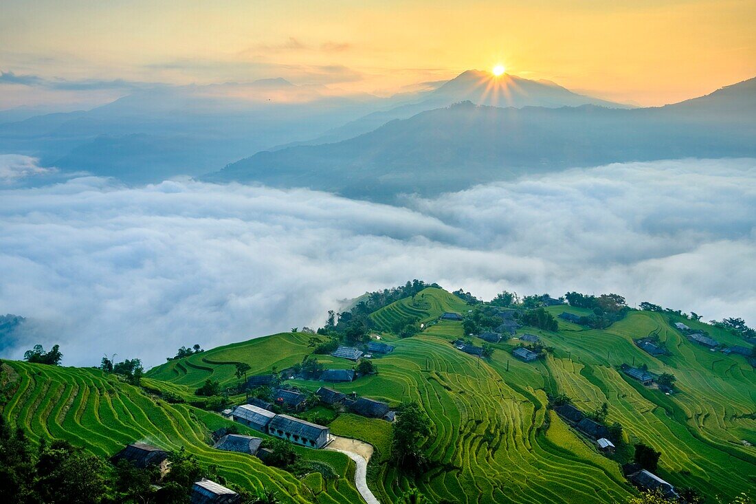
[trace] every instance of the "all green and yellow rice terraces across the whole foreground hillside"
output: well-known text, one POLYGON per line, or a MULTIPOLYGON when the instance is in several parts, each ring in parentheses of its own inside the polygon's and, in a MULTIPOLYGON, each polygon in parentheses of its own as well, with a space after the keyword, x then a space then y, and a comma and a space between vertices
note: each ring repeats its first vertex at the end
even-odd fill
MULTIPOLYGON (((590 310, 556 304, 539 309, 558 321, 556 330, 523 323, 512 338, 504 334, 501 341, 487 344, 486 356, 479 356, 452 343, 469 338, 464 329, 472 316, 468 311, 481 306, 440 288, 425 288, 367 316, 368 335, 395 347, 374 356, 376 373, 333 384, 282 377, 283 387, 314 392, 325 385, 383 401, 392 409, 410 401, 420 405, 430 434, 421 443, 428 463, 418 475, 402 471, 392 458, 391 423, 349 412, 319 413, 331 434, 373 445, 367 484, 383 504, 404 502, 403 494, 413 488, 436 503, 627 502, 638 490, 622 465, 633 462, 636 443, 661 453, 654 474, 677 490, 696 489, 703 502, 716 502, 717 496, 730 502, 756 487, 756 371, 751 357, 711 350, 686 334, 705 331, 723 347, 751 349, 744 338, 680 313, 654 310, 626 309, 605 327, 590 328, 559 317, 589 316, 590 310), (442 319, 445 313, 466 320, 442 319), (675 322, 684 323, 688 332, 675 322), (398 338, 397 329, 404 324, 414 324, 416 334, 398 338), (537 346, 526 345, 541 351, 538 359, 513 356, 524 342, 515 337, 522 334, 540 339, 537 346), (652 338, 664 353, 642 350, 634 341, 639 338, 652 338), (623 364, 655 376, 674 375, 674 390, 644 385, 623 372, 623 364), (602 421, 622 426, 616 452, 601 453, 595 440, 557 415, 555 397, 569 397, 582 412, 606 403, 602 421)), ((313 352, 313 337, 274 334, 170 360, 150 369, 141 388, 97 369, 5 362, 12 386, 3 414, 33 440, 63 438, 101 456, 135 440, 170 449, 185 446, 200 461, 218 465, 228 481, 273 488, 284 502, 362 502, 353 482, 354 462, 341 453, 297 448, 338 472, 327 484, 311 485, 308 478, 268 467, 256 457, 214 450, 209 432, 229 420, 150 393, 170 392, 191 402, 194 390, 207 380, 236 386, 240 362, 249 365, 249 375, 291 369, 313 352)), ((485 343, 469 339, 475 346, 485 343)), ((314 358, 329 369, 355 364, 328 353, 314 358)), ((245 402, 238 391, 231 393, 231 401, 245 402)), ((311 414, 318 409, 327 408, 317 406, 311 414)), ((302 412, 303 418, 308 414, 302 412)))

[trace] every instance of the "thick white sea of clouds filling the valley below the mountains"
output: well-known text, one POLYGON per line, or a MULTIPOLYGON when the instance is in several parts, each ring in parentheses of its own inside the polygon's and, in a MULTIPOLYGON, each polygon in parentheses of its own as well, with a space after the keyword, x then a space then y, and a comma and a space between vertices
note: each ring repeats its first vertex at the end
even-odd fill
MULTIPOLYGON (((16 157, 4 173, 43 172, 16 157)), ((485 299, 615 292, 754 325, 754 265, 753 159, 576 169, 401 206, 191 180, 7 184, 0 314, 29 321, 0 357, 59 343, 66 365, 118 353, 152 366, 181 345, 317 327, 412 278, 485 299)))

